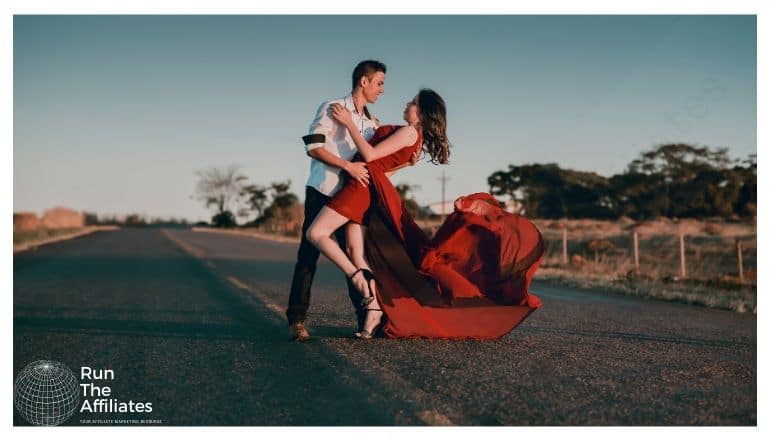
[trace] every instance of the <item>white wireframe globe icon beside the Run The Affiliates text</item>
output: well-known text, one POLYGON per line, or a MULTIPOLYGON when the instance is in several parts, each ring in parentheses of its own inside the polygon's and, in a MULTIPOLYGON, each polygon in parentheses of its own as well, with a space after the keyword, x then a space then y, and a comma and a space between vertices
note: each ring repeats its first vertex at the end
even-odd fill
POLYGON ((61 362, 35 361, 16 378, 13 405, 33 425, 60 425, 80 405, 78 386, 75 374, 61 362))

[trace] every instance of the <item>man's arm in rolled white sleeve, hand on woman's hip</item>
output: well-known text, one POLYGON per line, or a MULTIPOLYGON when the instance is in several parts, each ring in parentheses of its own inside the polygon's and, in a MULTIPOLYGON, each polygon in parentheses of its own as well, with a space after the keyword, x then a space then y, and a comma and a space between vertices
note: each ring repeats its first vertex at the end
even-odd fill
POLYGON ((318 107, 315 118, 310 124, 310 130, 307 136, 303 136, 305 142, 305 152, 313 159, 320 160, 330 167, 336 167, 350 174, 352 178, 362 185, 369 184, 369 170, 363 162, 349 162, 339 156, 330 153, 324 148, 326 139, 332 132, 332 126, 336 124, 329 114, 329 103, 324 102, 318 107))

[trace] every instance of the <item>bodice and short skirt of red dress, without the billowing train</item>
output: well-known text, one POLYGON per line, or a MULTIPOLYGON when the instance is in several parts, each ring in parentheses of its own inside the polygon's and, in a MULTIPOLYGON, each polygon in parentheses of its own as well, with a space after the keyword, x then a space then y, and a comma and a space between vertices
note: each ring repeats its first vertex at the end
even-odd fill
MULTIPOLYGON (((399 125, 383 125, 374 132, 374 136, 372 136, 369 144, 372 146, 379 144, 382 140, 395 133, 401 127, 402 126, 399 125)), ((414 144, 401 148, 400 150, 377 160, 368 162, 366 168, 369 169, 369 173, 371 174, 373 170, 385 173, 409 162, 409 159, 412 157, 415 150, 422 147, 422 134, 419 130, 417 133, 417 141, 415 141, 414 144)), ((332 197, 326 206, 347 217, 354 223, 364 224, 372 200, 370 191, 369 186, 363 186, 353 179, 348 179, 345 182, 345 186, 332 197)))

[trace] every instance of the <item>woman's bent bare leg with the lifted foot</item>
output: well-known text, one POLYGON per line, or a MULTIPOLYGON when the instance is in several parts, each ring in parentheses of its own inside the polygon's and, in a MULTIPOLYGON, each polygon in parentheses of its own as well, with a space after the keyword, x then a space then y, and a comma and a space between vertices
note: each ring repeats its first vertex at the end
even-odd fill
MULTIPOLYGON (((345 251, 340 248, 340 245, 332 238, 334 231, 339 229, 342 225, 349 220, 347 217, 341 215, 337 211, 324 206, 318 216, 313 220, 313 224, 307 230, 307 239, 326 255, 332 263, 336 264, 345 276, 350 276, 358 268, 350 261, 345 251)), ((350 246, 350 244, 348 244, 350 246)), ((366 279, 363 274, 358 273, 353 277, 353 285, 356 286, 359 292, 368 292, 366 285, 366 279)))

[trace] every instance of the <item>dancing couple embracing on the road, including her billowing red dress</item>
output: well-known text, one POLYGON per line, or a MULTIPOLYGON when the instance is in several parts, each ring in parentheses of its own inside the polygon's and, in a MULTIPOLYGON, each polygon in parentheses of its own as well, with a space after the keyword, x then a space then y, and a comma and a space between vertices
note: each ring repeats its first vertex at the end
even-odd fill
POLYGON ((499 338, 542 305, 528 291, 542 236, 487 193, 458 198, 433 238, 426 236, 389 177, 422 153, 433 164, 448 162, 446 105, 422 89, 406 103, 404 125, 380 126, 367 104, 383 93, 385 74, 378 61, 359 63, 351 94, 321 104, 303 137, 311 164, 286 310, 290 338, 310 339, 305 319, 320 253, 346 276, 357 338, 378 331, 390 338, 499 338))

